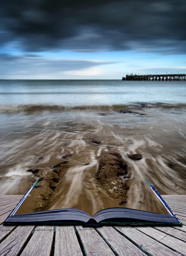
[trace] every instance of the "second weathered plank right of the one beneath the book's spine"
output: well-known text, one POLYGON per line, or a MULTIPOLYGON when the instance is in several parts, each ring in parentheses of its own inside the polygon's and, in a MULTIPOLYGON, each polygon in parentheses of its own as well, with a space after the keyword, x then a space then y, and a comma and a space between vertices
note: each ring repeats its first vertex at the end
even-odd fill
POLYGON ((168 247, 160 244, 158 241, 146 236, 145 234, 141 233, 139 230, 136 230, 134 227, 115 227, 124 236, 127 236, 129 239, 134 241, 137 246, 147 253, 152 254, 153 256, 175 256, 180 255, 173 250, 169 249, 168 247))

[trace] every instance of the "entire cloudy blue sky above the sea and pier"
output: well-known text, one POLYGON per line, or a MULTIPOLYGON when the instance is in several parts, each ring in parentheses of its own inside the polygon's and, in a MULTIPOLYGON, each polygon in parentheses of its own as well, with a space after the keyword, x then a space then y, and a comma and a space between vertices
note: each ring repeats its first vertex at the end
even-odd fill
POLYGON ((186 73, 185 0, 0 0, 0 79, 186 73))

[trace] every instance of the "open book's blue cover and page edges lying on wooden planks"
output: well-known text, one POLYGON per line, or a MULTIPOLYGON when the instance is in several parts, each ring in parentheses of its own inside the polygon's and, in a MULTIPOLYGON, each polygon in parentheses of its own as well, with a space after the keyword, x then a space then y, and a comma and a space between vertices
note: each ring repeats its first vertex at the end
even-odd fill
MULTIPOLYGON (((38 181, 38 180, 37 180, 38 181)), ((93 216, 80 209, 65 208, 65 209, 49 209, 45 211, 30 212, 20 214, 20 206, 24 212, 23 202, 34 188, 37 181, 30 187, 15 209, 11 212, 4 224, 76 224, 99 226, 103 224, 118 225, 118 224, 146 224, 146 225, 181 225, 181 221, 172 212, 163 198, 159 195, 156 189, 147 184, 152 189, 159 203, 165 207, 166 214, 147 212, 139 209, 129 209, 123 207, 113 207, 102 209, 96 212, 93 216), (19 212, 19 214, 17 214, 19 212)))

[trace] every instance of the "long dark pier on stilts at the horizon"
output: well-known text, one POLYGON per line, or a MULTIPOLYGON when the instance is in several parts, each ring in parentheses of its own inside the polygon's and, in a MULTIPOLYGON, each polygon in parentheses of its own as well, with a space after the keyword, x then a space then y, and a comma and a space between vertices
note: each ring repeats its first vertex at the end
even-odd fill
POLYGON ((186 81, 186 74, 126 75, 123 81, 186 81))

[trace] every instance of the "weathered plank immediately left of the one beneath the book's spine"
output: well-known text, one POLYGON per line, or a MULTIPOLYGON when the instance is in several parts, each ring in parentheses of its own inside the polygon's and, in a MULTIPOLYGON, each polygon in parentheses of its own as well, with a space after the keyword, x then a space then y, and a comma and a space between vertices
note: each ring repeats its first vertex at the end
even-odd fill
POLYGON ((83 256, 73 226, 56 227, 54 256, 63 255, 83 256))

